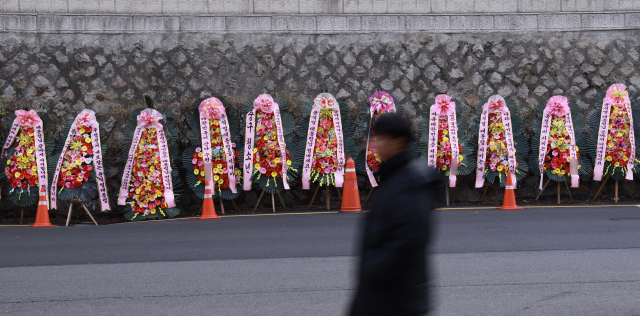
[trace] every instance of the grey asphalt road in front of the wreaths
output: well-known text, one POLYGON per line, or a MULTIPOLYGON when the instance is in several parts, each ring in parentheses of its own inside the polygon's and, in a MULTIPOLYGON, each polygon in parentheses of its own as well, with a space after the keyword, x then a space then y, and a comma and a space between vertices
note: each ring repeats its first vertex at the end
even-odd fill
MULTIPOLYGON (((640 315, 640 208, 437 213, 436 315, 640 315)), ((0 314, 343 315, 362 217, 0 227, 0 314)))

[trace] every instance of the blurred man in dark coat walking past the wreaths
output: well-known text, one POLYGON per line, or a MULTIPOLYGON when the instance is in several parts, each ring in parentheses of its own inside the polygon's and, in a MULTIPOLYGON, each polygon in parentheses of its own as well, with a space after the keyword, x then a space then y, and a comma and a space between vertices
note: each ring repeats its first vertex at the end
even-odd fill
POLYGON ((430 213, 443 183, 426 161, 407 151, 411 128, 404 117, 382 114, 373 132, 372 146, 383 161, 380 186, 364 224, 350 315, 427 315, 430 213))

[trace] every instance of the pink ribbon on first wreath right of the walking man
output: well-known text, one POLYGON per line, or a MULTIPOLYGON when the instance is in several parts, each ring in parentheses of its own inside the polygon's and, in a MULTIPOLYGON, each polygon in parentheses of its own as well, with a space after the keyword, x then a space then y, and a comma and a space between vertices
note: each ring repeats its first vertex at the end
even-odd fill
POLYGON ((451 97, 441 94, 436 97, 436 103, 431 106, 429 112, 429 152, 427 164, 437 168, 438 157, 438 135, 439 119, 441 116, 447 117, 449 127, 449 143, 451 144, 451 164, 449 170, 449 187, 456 186, 456 175, 458 174, 458 127, 456 126, 456 103, 451 101, 451 97))

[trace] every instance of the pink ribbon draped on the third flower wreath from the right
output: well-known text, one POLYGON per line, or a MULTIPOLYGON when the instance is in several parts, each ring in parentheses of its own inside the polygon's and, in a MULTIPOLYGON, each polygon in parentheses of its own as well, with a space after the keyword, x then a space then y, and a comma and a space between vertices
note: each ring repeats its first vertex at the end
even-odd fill
POLYGON ((507 142, 507 152, 509 161, 509 170, 511 178, 513 179, 513 187, 516 187, 516 151, 515 142, 513 141, 513 129, 511 126, 511 113, 507 107, 504 98, 499 95, 494 95, 489 98, 489 101, 482 106, 482 114, 480 115, 480 130, 478 131, 478 158, 476 167, 476 188, 481 188, 484 185, 484 163, 487 155, 488 144, 488 128, 489 128, 489 113, 500 113, 502 118, 502 124, 504 125, 504 138, 507 142))

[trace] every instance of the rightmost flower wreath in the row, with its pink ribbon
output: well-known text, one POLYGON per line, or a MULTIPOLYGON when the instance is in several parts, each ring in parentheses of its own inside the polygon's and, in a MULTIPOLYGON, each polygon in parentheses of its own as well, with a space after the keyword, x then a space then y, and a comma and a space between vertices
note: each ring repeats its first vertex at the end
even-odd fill
POLYGON ((601 181, 603 175, 633 180, 634 169, 639 171, 633 122, 633 111, 640 111, 636 99, 637 93, 630 96, 624 84, 614 84, 606 91, 601 108, 589 115, 591 130, 598 130, 590 140, 594 180, 601 181))

